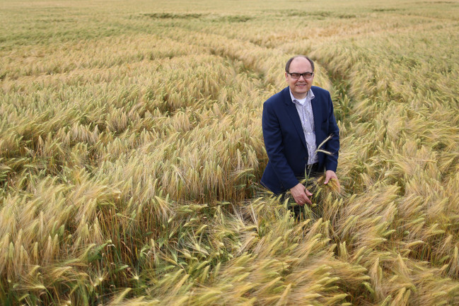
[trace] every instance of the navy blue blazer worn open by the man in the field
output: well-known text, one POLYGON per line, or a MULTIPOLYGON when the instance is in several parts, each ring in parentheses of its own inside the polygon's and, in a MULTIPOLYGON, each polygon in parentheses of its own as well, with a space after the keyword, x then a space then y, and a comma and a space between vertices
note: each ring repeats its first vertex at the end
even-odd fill
MULTIPOLYGON (((339 151, 339 129, 333 114, 330 93, 312 86, 315 98, 311 100, 314 114, 315 143, 320 145, 330 134, 332 139, 318 152, 318 169, 336 172, 339 151)), ((263 104, 263 139, 269 158, 261 183, 274 194, 281 194, 296 186, 305 177, 308 149, 295 104, 291 102, 289 87, 273 95, 263 104)))

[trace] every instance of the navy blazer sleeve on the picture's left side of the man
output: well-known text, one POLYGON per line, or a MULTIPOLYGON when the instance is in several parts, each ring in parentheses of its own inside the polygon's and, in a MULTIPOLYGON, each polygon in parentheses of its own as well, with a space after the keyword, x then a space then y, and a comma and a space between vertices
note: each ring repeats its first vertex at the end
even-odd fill
POLYGON ((269 100, 263 104, 262 130, 269 163, 272 165, 279 181, 286 189, 295 187, 299 181, 289 163, 287 163, 279 117, 269 100))

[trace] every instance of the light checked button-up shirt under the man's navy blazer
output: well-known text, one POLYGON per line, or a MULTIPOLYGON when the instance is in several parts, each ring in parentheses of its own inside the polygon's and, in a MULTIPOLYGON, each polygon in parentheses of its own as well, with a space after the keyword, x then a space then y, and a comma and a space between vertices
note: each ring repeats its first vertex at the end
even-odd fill
POLYGON ((301 100, 296 99, 290 90, 290 97, 300 116, 301 126, 303 126, 304 138, 308 147, 308 165, 317 163, 319 158, 314 154, 315 150, 317 150, 317 146, 315 145, 314 114, 313 106, 310 104, 310 100, 314 98, 313 90, 309 90, 306 98, 301 100))

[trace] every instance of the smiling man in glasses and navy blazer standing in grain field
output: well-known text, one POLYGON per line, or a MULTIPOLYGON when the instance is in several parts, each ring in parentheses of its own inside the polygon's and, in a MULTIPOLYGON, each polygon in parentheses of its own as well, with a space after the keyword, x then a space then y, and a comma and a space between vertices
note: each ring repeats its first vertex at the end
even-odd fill
POLYGON ((298 55, 287 61, 285 78, 289 85, 266 100, 263 105, 263 138, 269 162, 262 176, 262 184, 274 194, 290 190, 301 206, 312 204, 312 194, 300 183, 305 170, 313 175, 325 171, 325 184, 338 178, 339 129, 333 114, 330 93, 312 86, 314 63, 298 55), (317 148, 328 136, 321 150, 317 148))

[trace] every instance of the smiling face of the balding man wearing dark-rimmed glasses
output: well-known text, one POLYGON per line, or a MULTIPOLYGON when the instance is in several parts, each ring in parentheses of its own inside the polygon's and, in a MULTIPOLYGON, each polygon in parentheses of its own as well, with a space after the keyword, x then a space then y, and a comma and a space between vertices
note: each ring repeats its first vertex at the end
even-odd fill
MULTIPOLYGON (((290 63, 289 73, 305 73, 305 72, 313 72, 313 68, 310 66, 310 62, 308 59, 304 57, 296 57, 290 63)), ((310 78, 304 78, 304 76, 300 76, 300 78, 292 78, 289 73, 285 73, 285 78, 287 84, 289 84, 291 93, 297 99, 304 99, 310 90, 310 86, 313 85, 314 75, 310 78)))

